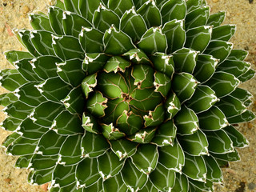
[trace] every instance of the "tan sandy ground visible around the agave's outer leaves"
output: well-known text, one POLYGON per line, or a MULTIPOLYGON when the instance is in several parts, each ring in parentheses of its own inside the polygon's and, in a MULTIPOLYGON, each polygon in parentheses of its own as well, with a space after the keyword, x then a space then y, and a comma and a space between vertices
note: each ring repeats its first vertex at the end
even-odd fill
MULTIPOLYGON (((50 0, 0 0, 0 70, 11 67, 2 55, 5 50, 22 50, 22 46, 11 34, 13 28, 30 28, 27 14, 37 10, 46 10, 50 0)), ((231 39, 234 47, 248 50, 250 55, 246 60, 256 69, 256 0, 208 0, 211 11, 226 10, 226 23, 236 24, 238 30, 231 39)), ((256 97, 256 78, 246 82, 242 87, 250 90, 256 97)), ((6 90, 0 88, 0 94, 6 90)), ((256 102, 251 109, 256 111, 256 102)), ((4 120, 0 113, 0 122, 4 120)), ((225 186, 216 186, 218 192, 253 192, 256 191, 256 121, 244 123, 239 130, 250 141, 250 147, 239 150, 241 162, 230 163, 223 170, 225 186)), ((0 129, 0 142, 10 134, 0 129)), ((39 186, 26 183, 27 170, 14 169, 14 157, 6 156, 0 148, 0 192, 40 192, 39 186)))

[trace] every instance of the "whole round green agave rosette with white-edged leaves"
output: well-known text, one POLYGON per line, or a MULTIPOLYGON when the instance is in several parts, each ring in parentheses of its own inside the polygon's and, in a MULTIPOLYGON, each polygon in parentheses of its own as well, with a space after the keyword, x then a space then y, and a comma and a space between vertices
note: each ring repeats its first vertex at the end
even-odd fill
POLYGON ((7 51, 6 154, 50 191, 213 191, 248 145, 254 76, 205 0, 64 0, 7 51), (233 125, 233 126, 232 126, 233 125))

